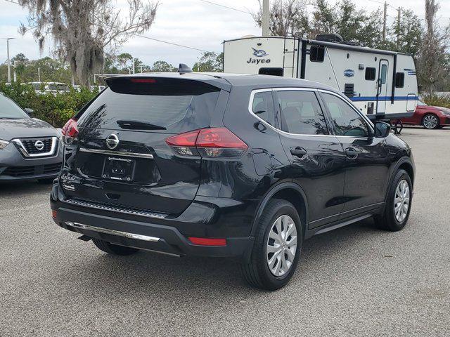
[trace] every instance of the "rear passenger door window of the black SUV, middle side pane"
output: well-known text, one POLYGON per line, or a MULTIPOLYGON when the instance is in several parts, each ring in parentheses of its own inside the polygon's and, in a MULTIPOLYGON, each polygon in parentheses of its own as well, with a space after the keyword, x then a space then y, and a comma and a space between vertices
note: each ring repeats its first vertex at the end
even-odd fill
POLYGON ((278 91, 281 130, 302 135, 328 135, 325 117, 313 91, 278 91))

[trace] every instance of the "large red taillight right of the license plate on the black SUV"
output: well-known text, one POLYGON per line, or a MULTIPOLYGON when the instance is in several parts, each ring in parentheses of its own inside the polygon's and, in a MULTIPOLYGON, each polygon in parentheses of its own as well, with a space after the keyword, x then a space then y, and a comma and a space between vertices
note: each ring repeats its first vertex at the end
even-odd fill
POLYGON ((240 157, 248 149, 228 128, 202 128, 166 139, 176 153, 184 156, 240 157))

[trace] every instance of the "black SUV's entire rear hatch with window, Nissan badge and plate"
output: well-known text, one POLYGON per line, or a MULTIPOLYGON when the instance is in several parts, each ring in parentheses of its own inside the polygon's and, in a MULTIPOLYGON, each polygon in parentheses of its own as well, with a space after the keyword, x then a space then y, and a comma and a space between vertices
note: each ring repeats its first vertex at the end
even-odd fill
POLYGON ((67 199, 181 213, 200 184, 200 157, 176 156, 166 139, 223 114, 220 88, 166 77, 117 77, 77 117, 61 185, 67 199))

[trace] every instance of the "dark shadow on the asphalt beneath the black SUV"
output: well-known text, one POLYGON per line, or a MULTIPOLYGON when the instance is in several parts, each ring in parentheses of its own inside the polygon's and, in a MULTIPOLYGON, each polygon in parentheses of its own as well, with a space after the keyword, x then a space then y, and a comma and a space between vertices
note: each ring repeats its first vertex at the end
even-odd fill
MULTIPOLYGON (((330 255, 339 251, 351 251, 362 239, 378 235, 373 220, 364 220, 332 232, 320 234, 304 242, 302 260, 290 284, 302 286, 304 273, 315 273, 317 266, 330 260, 330 255), (342 244, 345 242, 345 244, 342 244)), ((88 244, 91 244, 89 242, 88 244)), ((95 249, 94 245, 89 249, 95 249)), ((88 249, 86 247, 86 249, 88 249)), ((70 282, 75 289, 96 293, 96 296, 157 296, 160 300, 179 300, 186 296, 217 300, 232 291, 241 293, 243 300, 260 293, 250 288, 240 277, 238 259, 230 258, 175 258, 158 253, 141 251, 133 256, 110 256, 96 250, 89 252, 89 258, 73 260, 64 274, 56 275, 56 282, 70 282), (82 275, 82 277, 80 277, 82 275), (73 284, 82 279, 82 284, 73 284), (186 295, 188 294, 188 295, 186 295)))

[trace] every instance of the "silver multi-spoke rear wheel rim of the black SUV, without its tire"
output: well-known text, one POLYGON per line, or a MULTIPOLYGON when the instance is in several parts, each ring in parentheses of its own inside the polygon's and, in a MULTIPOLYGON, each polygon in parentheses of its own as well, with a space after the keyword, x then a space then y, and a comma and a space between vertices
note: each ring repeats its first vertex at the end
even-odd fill
POLYGON ((278 217, 272 225, 266 244, 269 270, 276 277, 285 275, 293 265, 297 252, 297 227, 293 218, 278 217))

